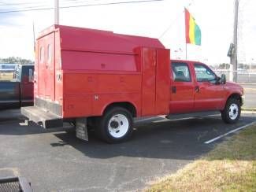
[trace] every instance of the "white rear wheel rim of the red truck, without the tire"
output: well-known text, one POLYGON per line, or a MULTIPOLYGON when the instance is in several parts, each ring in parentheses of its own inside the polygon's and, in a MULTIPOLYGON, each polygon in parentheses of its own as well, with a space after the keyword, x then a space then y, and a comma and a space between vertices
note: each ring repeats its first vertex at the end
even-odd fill
POLYGON ((129 129, 129 120, 123 114, 117 114, 110 118, 108 124, 109 134, 113 138, 123 137, 129 129))

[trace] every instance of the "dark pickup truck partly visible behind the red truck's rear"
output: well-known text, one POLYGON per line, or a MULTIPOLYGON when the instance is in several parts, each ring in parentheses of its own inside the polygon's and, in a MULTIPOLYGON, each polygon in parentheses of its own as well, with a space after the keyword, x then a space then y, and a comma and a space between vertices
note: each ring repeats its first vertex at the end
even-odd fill
POLYGON ((0 81, 0 109, 16 109, 33 105, 34 65, 17 65, 13 79, 0 81))

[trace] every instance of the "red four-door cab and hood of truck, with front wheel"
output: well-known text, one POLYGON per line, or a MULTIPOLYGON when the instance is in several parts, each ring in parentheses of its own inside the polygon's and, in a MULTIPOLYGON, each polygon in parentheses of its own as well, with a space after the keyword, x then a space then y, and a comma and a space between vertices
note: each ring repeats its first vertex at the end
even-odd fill
POLYGON ((170 70, 169 116, 221 112, 227 123, 239 119, 243 87, 227 83, 224 76, 198 61, 173 60, 170 70))

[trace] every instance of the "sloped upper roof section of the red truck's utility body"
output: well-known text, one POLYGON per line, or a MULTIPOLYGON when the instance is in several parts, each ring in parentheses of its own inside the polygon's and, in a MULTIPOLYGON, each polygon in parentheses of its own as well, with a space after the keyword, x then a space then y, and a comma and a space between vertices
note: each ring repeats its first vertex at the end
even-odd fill
POLYGON ((77 28, 64 25, 52 25, 39 33, 39 38, 53 31, 60 33, 61 50, 89 50, 110 53, 134 54, 139 46, 165 49, 165 46, 154 38, 121 35, 113 31, 102 31, 90 28, 77 28))

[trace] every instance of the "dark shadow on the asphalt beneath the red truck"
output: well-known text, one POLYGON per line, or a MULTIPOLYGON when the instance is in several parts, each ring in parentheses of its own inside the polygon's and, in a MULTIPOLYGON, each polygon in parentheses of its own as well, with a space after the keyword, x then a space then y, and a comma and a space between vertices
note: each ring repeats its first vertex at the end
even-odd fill
POLYGON ((50 145, 70 145, 87 157, 100 159, 123 156, 194 160, 213 149, 213 145, 207 146, 203 143, 206 139, 243 124, 246 123, 227 125, 220 118, 211 117, 165 121, 137 127, 132 139, 121 144, 106 144, 90 132, 89 142, 77 139, 75 134, 57 133, 54 135, 61 142, 50 145))

